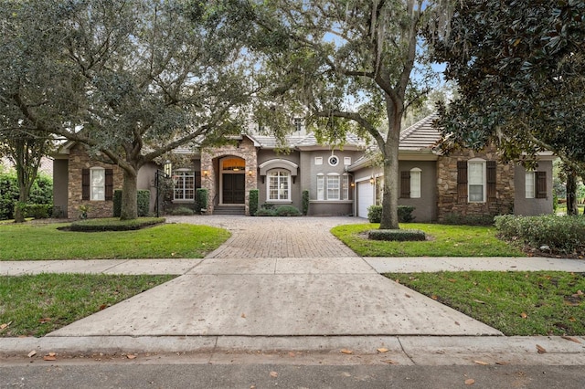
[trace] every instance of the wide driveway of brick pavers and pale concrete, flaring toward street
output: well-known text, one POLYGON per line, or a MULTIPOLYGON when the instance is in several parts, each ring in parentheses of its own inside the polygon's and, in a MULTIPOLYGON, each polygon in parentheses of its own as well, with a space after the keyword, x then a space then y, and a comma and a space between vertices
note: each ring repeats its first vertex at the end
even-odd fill
POLYGON ((355 217, 170 217, 232 236, 185 275, 48 336, 502 335, 380 276, 329 230, 355 217))

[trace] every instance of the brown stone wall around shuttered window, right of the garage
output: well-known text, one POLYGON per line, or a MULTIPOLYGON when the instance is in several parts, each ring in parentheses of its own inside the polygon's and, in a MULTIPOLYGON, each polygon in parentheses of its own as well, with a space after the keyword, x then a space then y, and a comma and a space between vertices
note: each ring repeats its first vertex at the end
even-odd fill
POLYGON ((494 148, 483 152, 453 152, 437 161, 437 218, 443 221, 450 214, 457 216, 495 216, 514 212, 514 164, 497 163, 495 201, 485 203, 458 202, 457 162, 472 158, 498 161, 494 148))

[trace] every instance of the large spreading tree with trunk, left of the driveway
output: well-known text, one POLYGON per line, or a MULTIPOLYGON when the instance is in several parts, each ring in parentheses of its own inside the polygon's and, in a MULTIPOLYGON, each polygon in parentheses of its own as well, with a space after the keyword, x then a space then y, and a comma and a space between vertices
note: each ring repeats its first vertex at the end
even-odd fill
POLYGON ((0 113, 119 165, 122 218, 145 163, 240 131, 253 69, 203 3, 3 0, 0 18, 0 113))

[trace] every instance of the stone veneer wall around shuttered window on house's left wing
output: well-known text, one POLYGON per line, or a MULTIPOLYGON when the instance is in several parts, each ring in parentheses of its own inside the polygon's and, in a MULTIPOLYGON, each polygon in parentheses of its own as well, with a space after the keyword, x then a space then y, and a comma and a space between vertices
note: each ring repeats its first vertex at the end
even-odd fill
POLYGON ((113 190, 122 189, 123 174, 122 169, 116 165, 101 163, 90 160, 90 156, 85 148, 76 144, 69 150, 69 194, 67 212, 70 219, 80 216, 78 207, 80 205, 89 205, 90 210, 88 217, 112 217, 113 201, 89 201, 82 200, 81 195, 81 169, 90 169, 91 167, 103 167, 104 169, 113 169, 113 190))

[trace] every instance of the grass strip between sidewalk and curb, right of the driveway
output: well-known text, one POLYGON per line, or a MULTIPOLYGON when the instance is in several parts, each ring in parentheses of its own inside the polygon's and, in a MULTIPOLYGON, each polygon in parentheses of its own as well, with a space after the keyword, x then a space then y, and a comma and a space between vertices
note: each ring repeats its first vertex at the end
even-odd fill
POLYGON ((585 274, 441 272, 385 274, 505 335, 585 335, 585 274))

